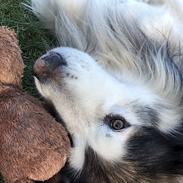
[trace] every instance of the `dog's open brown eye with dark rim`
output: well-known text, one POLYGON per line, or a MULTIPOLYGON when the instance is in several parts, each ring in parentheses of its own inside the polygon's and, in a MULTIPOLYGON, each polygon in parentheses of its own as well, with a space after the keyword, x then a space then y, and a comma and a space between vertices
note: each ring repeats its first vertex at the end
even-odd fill
POLYGON ((119 115, 109 114, 105 117, 104 121, 108 124, 108 126, 111 129, 115 131, 120 131, 130 126, 129 123, 125 120, 125 118, 119 115))

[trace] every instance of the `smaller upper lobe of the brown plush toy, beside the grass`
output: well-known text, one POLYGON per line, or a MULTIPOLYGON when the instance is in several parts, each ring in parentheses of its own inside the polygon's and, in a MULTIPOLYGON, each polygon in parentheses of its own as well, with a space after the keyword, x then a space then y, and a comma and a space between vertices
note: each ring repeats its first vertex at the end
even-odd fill
POLYGON ((21 86, 24 64, 14 31, 0 27, 0 82, 21 86))

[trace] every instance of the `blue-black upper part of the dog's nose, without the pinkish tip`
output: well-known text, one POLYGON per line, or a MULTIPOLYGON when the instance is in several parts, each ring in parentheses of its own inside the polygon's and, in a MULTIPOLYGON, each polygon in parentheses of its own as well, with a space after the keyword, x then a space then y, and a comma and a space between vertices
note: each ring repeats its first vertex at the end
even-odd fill
POLYGON ((45 61, 45 64, 50 71, 55 70, 59 66, 67 65, 64 58, 56 52, 50 52, 48 55, 43 56, 41 59, 45 61))

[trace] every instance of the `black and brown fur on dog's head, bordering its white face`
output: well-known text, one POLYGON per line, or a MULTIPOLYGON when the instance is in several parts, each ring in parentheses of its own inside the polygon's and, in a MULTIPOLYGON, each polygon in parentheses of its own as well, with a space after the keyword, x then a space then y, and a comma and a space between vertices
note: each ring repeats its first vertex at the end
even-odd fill
POLYGON ((163 183, 172 183, 172 177, 183 175, 183 144, 177 138, 142 127, 129 139, 121 162, 106 162, 88 148, 82 172, 67 167, 62 175, 72 183, 159 183, 161 177, 166 177, 163 183))

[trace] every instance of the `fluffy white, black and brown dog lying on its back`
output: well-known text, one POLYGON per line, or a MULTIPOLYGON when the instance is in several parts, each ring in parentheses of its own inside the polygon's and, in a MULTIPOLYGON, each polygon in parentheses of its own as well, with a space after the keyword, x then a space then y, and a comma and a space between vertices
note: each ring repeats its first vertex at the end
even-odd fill
POLYGON ((32 0, 60 42, 35 84, 73 140, 71 182, 183 182, 183 2, 32 0))

